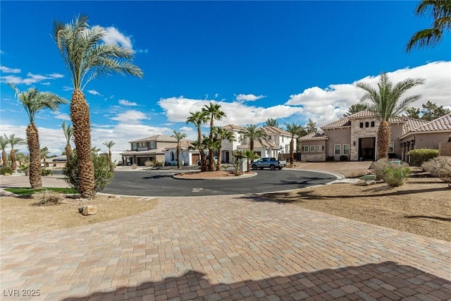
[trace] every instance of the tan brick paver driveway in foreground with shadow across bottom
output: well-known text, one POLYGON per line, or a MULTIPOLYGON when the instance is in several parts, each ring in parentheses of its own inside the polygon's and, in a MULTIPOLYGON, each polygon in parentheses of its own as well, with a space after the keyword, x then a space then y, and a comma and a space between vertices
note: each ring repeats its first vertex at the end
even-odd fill
POLYGON ((259 196, 159 198, 156 209, 117 221, 2 237, 1 293, 2 300, 449 300, 450 258, 450 242, 259 196), (32 290, 39 297, 8 297, 32 290))

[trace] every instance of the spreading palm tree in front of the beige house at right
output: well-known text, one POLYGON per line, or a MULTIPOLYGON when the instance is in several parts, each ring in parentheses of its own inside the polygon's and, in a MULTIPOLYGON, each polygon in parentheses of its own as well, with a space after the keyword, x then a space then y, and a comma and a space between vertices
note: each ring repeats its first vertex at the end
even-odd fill
POLYGON ((372 87, 365 82, 357 82, 356 86, 366 91, 361 102, 368 104, 368 109, 375 111, 381 121, 377 133, 377 158, 382 159, 388 156, 388 147, 390 146, 391 129, 388 122, 392 116, 396 116, 408 108, 408 105, 421 95, 412 95, 400 99, 402 94, 412 87, 423 85, 424 80, 421 78, 407 78, 402 82, 393 85, 388 80, 387 73, 381 73, 381 79, 378 82, 378 88, 372 87))

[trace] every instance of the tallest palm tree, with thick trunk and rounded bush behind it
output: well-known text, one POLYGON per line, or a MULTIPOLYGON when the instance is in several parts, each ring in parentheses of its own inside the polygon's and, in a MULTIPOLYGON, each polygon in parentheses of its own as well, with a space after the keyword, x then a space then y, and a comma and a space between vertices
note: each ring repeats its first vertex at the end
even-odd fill
POLYGON ((100 75, 119 73, 142 78, 142 70, 131 63, 134 51, 116 44, 104 44, 101 38, 105 34, 103 27, 89 27, 87 16, 75 17, 66 25, 54 22, 54 41, 74 87, 70 118, 78 156, 80 195, 88 199, 94 197, 95 182, 89 105, 82 90, 90 80, 100 75))

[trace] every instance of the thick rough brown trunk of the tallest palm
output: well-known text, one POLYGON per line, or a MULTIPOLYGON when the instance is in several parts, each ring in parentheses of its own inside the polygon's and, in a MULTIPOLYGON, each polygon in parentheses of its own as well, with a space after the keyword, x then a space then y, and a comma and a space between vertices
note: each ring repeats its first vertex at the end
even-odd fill
POLYGON ((94 165, 91 158, 91 119, 85 94, 80 90, 74 90, 72 94, 70 119, 73 123, 73 136, 78 156, 80 195, 90 199, 95 194, 94 165))

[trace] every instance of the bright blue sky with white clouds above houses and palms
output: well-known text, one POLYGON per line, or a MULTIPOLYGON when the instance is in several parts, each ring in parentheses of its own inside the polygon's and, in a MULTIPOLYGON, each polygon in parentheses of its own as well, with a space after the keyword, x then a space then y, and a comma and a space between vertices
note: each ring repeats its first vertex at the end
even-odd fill
MULTIPOLYGON (((429 27, 414 16, 417 1, 1 1, 0 134, 25 138, 27 116, 20 90, 37 87, 70 99, 71 82, 51 38, 54 20, 79 13, 107 30, 106 42, 135 51, 142 79, 114 75, 89 82, 92 145, 113 151, 128 142, 173 130, 195 139, 185 120, 208 102, 227 118, 217 125, 325 125, 359 102, 360 80, 376 84, 388 72, 394 82, 424 78, 412 93, 451 107, 451 37, 438 47, 405 45, 429 27)), ((61 154, 61 123, 69 106, 37 116, 41 147, 61 154)), ((26 147, 22 147, 26 149, 26 147)))

